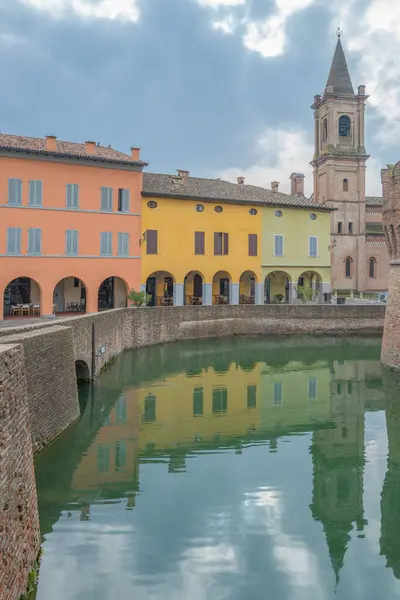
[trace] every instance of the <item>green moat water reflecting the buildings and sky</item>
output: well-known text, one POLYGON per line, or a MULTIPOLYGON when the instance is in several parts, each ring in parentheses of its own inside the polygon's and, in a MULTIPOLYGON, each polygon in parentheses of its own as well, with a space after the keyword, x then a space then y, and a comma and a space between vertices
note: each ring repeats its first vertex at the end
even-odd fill
POLYGON ((399 382, 379 353, 125 353, 37 460, 37 600, 400 598, 399 382))

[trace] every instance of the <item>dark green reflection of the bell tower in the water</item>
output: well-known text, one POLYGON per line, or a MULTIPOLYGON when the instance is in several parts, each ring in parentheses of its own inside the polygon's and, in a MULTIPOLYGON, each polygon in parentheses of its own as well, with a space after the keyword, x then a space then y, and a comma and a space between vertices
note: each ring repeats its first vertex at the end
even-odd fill
POLYGON ((363 529, 364 408, 357 395, 334 394, 335 427, 314 432, 311 512, 323 525, 336 582, 355 523, 363 529))

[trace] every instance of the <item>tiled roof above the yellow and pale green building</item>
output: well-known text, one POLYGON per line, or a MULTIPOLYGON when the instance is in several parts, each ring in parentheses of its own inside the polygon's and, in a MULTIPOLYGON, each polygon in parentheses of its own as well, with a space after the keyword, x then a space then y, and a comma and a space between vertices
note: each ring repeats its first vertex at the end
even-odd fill
POLYGON ((271 204, 332 210, 322 204, 314 204, 305 196, 291 196, 272 192, 266 188, 244 183, 230 183, 223 179, 179 177, 160 173, 143 173, 144 196, 168 196, 175 198, 198 198, 203 201, 217 200, 232 203, 271 204))

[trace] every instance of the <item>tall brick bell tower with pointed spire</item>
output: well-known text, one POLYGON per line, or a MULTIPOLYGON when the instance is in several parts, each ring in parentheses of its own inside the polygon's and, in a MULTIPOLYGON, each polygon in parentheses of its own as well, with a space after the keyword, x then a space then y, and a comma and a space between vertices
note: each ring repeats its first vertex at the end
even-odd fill
POLYGON ((365 289, 365 86, 354 93, 337 31, 325 90, 314 96, 314 201, 336 210, 331 219, 331 279, 336 290, 365 289))

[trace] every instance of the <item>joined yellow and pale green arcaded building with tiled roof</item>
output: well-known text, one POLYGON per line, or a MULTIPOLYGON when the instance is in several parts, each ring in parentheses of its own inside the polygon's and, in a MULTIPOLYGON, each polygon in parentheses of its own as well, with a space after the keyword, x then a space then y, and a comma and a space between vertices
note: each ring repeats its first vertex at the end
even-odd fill
POLYGON ((330 210, 292 194, 220 179, 144 173, 142 285, 151 305, 291 302, 330 290, 330 210))

